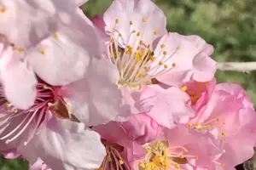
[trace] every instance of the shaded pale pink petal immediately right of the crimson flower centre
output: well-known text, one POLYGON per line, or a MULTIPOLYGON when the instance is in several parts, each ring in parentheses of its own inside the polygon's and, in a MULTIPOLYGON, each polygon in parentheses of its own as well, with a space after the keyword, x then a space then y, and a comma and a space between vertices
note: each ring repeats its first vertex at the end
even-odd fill
POLYGON ((119 72, 108 59, 92 58, 85 77, 66 87, 73 115, 88 126, 113 121, 122 102, 118 79, 119 72))

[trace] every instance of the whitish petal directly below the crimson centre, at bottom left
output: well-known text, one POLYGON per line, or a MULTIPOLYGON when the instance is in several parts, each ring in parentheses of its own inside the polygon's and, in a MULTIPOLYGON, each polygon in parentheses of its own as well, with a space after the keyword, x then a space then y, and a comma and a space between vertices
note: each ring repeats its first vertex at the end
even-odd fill
POLYGON ((96 169, 106 155, 100 135, 83 123, 52 119, 21 153, 28 161, 37 153, 52 169, 96 169))

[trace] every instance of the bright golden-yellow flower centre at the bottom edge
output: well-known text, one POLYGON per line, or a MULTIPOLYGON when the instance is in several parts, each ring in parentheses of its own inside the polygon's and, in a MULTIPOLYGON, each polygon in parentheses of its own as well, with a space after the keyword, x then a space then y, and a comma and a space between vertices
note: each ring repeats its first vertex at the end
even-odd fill
POLYGON ((198 156, 185 155, 189 150, 183 146, 169 146, 167 141, 149 144, 145 149, 147 154, 143 161, 138 162, 139 170, 180 169, 189 159, 198 159, 198 156))

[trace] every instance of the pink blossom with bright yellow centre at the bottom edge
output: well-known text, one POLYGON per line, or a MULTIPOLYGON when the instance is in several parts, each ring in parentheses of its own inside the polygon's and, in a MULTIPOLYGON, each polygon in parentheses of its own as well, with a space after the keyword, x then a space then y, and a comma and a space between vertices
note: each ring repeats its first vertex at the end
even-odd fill
POLYGON ((144 144, 143 159, 133 162, 134 169, 184 169, 208 167, 214 169, 212 160, 218 155, 211 134, 201 134, 187 127, 163 129, 163 134, 153 142, 144 144))

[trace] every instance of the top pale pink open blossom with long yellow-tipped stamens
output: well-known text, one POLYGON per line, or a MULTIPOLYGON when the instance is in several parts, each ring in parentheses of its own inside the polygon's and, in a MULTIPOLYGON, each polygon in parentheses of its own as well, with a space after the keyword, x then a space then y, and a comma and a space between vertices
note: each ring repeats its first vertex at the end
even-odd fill
MULTIPOLYGON (((190 74, 190 67, 195 55, 204 56, 202 60, 207 63, 207 68, 210 68, 211 72, 206 75, 212 78, 215 72, 215 62, 205 54, 207 51, 205 48, 212 46, 200 37, 183 37, 177 33, 166 34, 165 14, 149 0, 113 1, 103 15, 103 20, 104 22, 102 22, 101 17, 97 17, 94 19, 94 24, 100 29, 104 29, 105 35, 108 35, 107 42, 105 37, 102 38, 107 43, 105 49, 107 56, 104 59, 108 63, 97 62, 96 65, 92 66, 104 67, 106 70, 109 68, 106 72, 115 76, 116 82, 108 83, 109 88, 118 88, 122 94, 119 115, 116 116, 115 120, 123 122, 128 120, 131 114, 148 112, 148 116, 151 116, 160 125, 174 127, 175 122, 179 119, 179 114, 180 116, 193 116, 193 111, 187 105, 189 100, 187 94, 174 87, 163 90, 155 84, 159 83, 158 77, 176 69, 179 73, 173 75, 182 75, 183 77, 188 72, 190 76, 193 75, 190 74), (184 63, 179 63, 178 59, 184 63), (180 70, 181 65, 178 66, 179 64, 187 65, 186 69, 188 68, 189 71, 183 68, 180 70), (176 104, 170 102, 170 99, 176 104), (158 112, 160 109, 160 112, 165 111, 162 114, 167 116, 165 122, 163 119, 159 120, 160 117, 154 117, 152 113, 158 112)), ((197 74, 200 71, 195 72, 197 74)), ((204 70, 203 72, 205 74, 207 71, 204 70)), ((176 82, 173 75, 168 77, 176 82)), ((204 76, 201 75, 200 77, 204 76)), ((165 77, 160 79, 163 80, 165 77)), ((182 78, 182 81, 173 84, 180 84, 188 80, 190 78, 182 78)), ((101 82, 99 83, 101 84, 101 82)), ((94 99, 91 98, 90 100, 94 99)), ((90 105, 90 102, 84 105, 90 105)), ((81 122, 87 122, 87 117, 84 117, 83 114, 76 114, 75 116, 81 122)))

